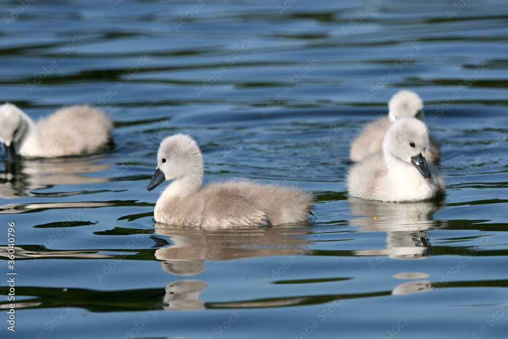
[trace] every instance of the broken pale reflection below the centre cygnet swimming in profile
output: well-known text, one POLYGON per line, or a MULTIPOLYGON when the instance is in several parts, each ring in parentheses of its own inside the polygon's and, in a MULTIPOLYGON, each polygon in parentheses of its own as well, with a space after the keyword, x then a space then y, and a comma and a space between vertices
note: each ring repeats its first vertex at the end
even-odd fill
MULTIPOLYGON (((305 255, 311 240, 304 235, 311 232, 301 228, 181 228, 156 223, 156 233, 169 237, 173 243, 157 249, 155 257, 162 269, 176 275, 195 275, 205 270, 206 260, 235 260, 266 256, 305 255)), ((205 303, 199 294, 207 288, 201 280, 186 279, 166 286, 164 309, 199 310, 205 303)), ((248 301, 232 307, 278 307, 299 303, 306 298, 289 300, 248 301)), ((214 308, 231 307, 229 303, 214 303, 214 308)))

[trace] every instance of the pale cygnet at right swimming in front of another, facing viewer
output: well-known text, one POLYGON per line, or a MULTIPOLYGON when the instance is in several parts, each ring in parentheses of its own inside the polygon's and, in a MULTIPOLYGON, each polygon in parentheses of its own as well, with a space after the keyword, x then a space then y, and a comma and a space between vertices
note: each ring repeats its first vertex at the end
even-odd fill
POLYGON ((351 197, 380 201, 420 201, 444 194, 444 179, 424 157, 429 132, 417 118, 397 119, 383 150, 354 164, 347 174, 351 197))

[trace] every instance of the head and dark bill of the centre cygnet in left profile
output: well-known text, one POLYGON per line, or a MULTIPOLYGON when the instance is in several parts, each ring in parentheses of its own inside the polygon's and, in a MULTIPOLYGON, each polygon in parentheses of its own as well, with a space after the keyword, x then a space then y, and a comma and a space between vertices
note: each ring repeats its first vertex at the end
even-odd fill
POLYGON ((147 190, 153 190, 164 180, 177 179, 185 179, 187 185, 198 189, 203 181, 203 157, 198 143, 181 133, 166 137, 161 142, 157 151, 157 169, 147 190))

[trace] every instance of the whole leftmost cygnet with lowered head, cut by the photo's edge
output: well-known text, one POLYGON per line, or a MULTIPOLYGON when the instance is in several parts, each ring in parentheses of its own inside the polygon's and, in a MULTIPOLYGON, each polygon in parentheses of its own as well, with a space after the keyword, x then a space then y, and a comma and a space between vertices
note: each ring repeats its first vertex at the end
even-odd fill
POLYGON ((37 124, 13 104, 0 106, 0 141, 6 155, 54 158, 91 153, 111 147, 113 122, 89 105, 63 107, 37 124))

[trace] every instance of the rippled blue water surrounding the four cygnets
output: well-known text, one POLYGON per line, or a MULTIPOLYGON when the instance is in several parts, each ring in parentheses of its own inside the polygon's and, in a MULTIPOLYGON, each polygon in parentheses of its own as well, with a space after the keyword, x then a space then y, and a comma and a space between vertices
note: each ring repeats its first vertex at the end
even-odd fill
POLYGON ((101 106, 117 147, 4 177, 3 338, 506 336, 503 2, 20 6, 2 6, 0 101, 34 119, 101 106), (424 100, 448 195, 348 199, 349 143, 400 88, 424 100), (293 184, 317 196, 315 220, 155 225, 146 185, 176 132, 197 139, 205 182, 293 184))

